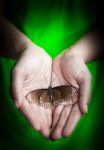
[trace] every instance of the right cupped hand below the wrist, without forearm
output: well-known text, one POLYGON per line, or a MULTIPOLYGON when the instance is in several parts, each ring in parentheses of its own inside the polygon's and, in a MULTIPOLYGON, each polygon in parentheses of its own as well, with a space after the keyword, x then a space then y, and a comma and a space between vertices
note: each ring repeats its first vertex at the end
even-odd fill
POLYGON ((83 113, 87 112, 90 98, 91 75, 84 61, 70 51, 62 52, 53 60, 52 87, 72 85, 79 89, 77 103, 61 104, 54 108, 51 138, 69 136, 83 113))

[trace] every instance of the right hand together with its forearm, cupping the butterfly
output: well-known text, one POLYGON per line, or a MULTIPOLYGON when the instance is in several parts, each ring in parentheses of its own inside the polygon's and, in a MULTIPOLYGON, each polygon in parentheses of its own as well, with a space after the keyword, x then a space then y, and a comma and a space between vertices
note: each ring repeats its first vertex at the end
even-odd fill
POLYGON ((81 115, 87 112, 90 99, 91 74, 86 63, 102 54, 102 38, 92 31, 82 37, 70 49, 63 51, 53 61, 52 86, 73 85, 79 89, 79 98, 73 105, 58 105, 54 108, 51 138, 57 140, 69 136, 81 115))

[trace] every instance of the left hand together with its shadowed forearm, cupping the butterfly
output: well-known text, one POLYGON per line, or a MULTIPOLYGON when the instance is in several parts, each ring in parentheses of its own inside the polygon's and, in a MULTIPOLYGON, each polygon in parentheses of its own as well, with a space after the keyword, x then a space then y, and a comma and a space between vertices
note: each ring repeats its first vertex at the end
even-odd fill
POLYGON ((15 105, 34 129, 48 137, 52 121, 51 109, 28 103, 25 96, 35 89, 49 87, 52 60, 42 48, 33 44, 4 18, 0 20, 0 31, 0 55, 16 60, 11 77, 15 105))

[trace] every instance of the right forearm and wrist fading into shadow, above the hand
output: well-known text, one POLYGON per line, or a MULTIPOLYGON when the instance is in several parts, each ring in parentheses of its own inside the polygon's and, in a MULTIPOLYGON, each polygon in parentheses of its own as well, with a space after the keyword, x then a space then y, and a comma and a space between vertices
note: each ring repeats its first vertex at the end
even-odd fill
POLYGON ((73 55, 85 63, 104 57, 103 36, 99 31, 91 31, 82 37, 75 45, 66 50, 66 55, 73 55))

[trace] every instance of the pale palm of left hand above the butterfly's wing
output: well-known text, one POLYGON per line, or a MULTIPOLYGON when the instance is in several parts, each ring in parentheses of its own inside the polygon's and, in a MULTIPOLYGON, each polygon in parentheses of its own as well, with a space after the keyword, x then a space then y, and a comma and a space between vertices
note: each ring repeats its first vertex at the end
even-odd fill
MULTIPOLYGON (((33 55, 33 54, 32 54, 33 55)), ((28 56, 23 60, 25 66, 25 78, 23 82, 23 93, 26 96, 29 92, 36 89, 48 88, 51 80, 51 58, 46 53, 38 56, 28 56)))

